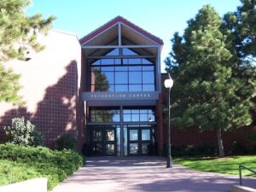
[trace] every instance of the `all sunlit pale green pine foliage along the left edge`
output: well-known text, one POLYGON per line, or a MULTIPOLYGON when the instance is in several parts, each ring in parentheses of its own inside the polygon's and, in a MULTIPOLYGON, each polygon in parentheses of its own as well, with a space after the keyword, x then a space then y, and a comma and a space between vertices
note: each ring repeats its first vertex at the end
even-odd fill
POLYGON ((39 51, 44 47, 37 42, 37 33, 48 32, 52 21, 50 16, 43 19, 37 14, 27 16, 25 9, 28 0, 0 0, 0 102, 21 104, 20 76, 11 69, 3 67, 3 61, 25 59, 28 47, 39 51))

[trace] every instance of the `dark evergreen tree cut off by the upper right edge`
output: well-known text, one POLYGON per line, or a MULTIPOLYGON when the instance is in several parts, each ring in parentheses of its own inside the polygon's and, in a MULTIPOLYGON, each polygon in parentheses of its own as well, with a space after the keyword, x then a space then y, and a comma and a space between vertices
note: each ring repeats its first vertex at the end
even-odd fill
MULTIPOLYGON (((241 6, 224 15, 222 32, 232 54, 232 76, 241 79, 246 89, 237 89, 241 96, 255 96, 256 86, 256 2, 241 0, 241 6)), ((254 100, 255 101, 255 100, 254 100)), ((253 109, 253 108, 252 108, 253 109)), ((254 107, 255 110, 255 107, 254 107)))

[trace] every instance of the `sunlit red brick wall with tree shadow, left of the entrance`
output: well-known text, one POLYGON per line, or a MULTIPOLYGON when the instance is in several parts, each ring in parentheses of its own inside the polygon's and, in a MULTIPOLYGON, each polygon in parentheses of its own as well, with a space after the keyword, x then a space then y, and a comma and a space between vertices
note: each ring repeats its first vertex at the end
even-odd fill
POLYGON ((77 134, 81 48, 76 36, 64 32, 51 31, 41 42, 45 49, 30 61, 9 61, 5 65, 20 74, 20 95, 26 105, 17 108, 0 103, 0 135, 4 139, 3 125, 24 116, 43 133, 45 144, 53 147, 64 132, 77 134))

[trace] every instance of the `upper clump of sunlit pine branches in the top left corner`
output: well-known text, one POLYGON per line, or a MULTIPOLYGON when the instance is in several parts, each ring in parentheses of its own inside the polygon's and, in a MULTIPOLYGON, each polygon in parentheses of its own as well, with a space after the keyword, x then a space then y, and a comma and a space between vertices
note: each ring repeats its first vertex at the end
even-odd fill
POLYGON ((45 20, 40 14, 29 17, 25 12, 29 4, 28 0, 1 0, 1 61, 11 58, 24 59, 27 50, 26 44, 35 50, 42 49, 37 42, 37 32, 46 34, 55 17, 50 16, 45 20), (17 44, 19 44, 19 49, 16 48, 17 44))

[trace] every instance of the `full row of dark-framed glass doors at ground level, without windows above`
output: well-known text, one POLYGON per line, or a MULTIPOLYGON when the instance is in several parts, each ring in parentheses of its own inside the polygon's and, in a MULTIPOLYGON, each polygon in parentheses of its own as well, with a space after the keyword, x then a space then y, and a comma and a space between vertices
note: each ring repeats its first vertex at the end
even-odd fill
POLYGON ((91 125, 91 155, 155 154, 154 125, 91 125))

